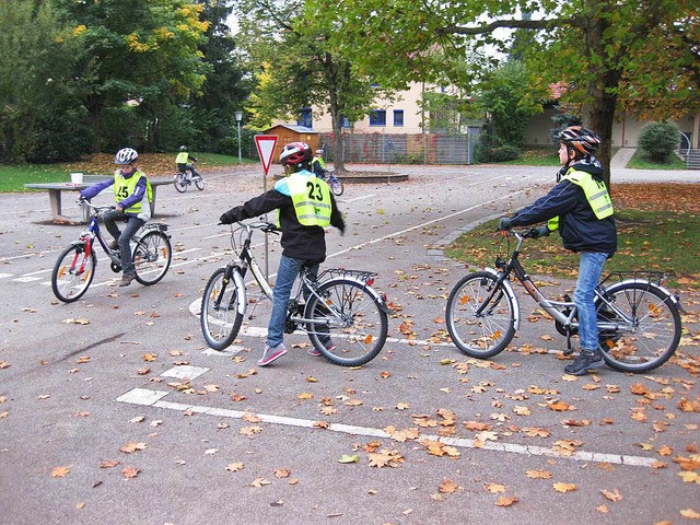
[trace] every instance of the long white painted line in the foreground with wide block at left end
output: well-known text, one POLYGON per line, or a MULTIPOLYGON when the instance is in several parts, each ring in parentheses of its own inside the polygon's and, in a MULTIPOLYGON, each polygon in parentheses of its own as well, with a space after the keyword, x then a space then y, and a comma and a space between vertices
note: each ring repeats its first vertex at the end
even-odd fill
MULTIPOLYGON (((133 388, 126 394, 117 397, 119 402, 128 402, 132 405, 150 406, 154 408, 162 408, 166 410, 177 411, 191 411, 196 413, 202 413, 207 416, 214 416, 218 418, 230 419, 243 419, 244 416, 250 412, 243 412, 240 410, 230 410, 225 408, 207 407, 183 402, 172 402, 163 400, 168 395, 167 392, 162 390, 149 390, 147 388, 133 388)), ((372 427, 359 427, 353 424, 343 423, 330 423, 325 429, 316 427, 316 421, 310 419, 289 418, 283 416, 275 416, 267 413, 256 413, 260 421, 270 424, 283 424, 288 427, 296 427, 303 429, 316 429, 318 431, 325 430, 330 432, 338 432, 350 435, 363 435, 368 438, 381 438, 390 439, 392 436, 382 429, 374 429, 372 427)), ((578 451, 572 455, 562 455, 552 448, 544 446, 533 445, 520 445, 517 443, 498 443, 492 441, 480 442, 467 438, 445 438, 440 435, 421 434, 422 439, 431 441, 439 441, 446 445, 456 446, 459 448, 481 448, 492 452, 508 452, 510 454, 520 454, 523 456, 544 456, 556 457, 558 459, 571 459, 575 462, 596 462, 596 463, 611 463, 616 465, 628 465, 633 467, 648 467, 651 468, 656 463, 655 458, 644 456, 629 456, 625 454, 606 454, 600 452, 578 451)))

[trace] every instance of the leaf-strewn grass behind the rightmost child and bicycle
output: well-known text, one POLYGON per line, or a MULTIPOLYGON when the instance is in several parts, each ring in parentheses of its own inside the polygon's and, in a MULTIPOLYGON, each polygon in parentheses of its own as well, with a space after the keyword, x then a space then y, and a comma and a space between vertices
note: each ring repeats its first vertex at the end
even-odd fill
MULTIPOLYGON (((664 271, 674 288, 700 289, 700 215, 668 211, 617 210, 618 252, 605 265, 608 271, 664 271)), ((497 254, 508 245, 494 233, 498 220, 489 221, 463 234, 445 255, 466 262, 470 269, 493 268, 497 254)), ((511 249, 513 246, 511 246, 511 249)), ((521 257, 530 275, 575 279, 579 255, 564 249, 558 233, 527 240, 521 257)))

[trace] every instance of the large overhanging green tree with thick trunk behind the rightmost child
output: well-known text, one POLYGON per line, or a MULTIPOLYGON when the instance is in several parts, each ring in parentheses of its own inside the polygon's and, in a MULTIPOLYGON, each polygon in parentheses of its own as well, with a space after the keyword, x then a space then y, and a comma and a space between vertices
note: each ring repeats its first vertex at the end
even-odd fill
POLYGON ((308 0, 307 15, 335 28, 336 49, 395 85, 443 74, 466 85, 455 66, 487 45, 508 48, 498 30, 537 32, 522 49, 529 70, 540 86, 568 85, 565 100, 581 103, 584 125, 606 139, 599 158, 609 168, 618 106, 700 108, 699 9, 696 0, 308 0))

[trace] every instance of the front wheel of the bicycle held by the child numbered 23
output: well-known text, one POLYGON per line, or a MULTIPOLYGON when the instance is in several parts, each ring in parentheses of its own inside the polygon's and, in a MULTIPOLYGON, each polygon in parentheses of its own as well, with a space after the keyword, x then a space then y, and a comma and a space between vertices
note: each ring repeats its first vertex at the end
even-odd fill
MULTIPOLYGON (((234 268, 232 271, 238 271, 234 268)), ((238 312, 238 291, 233 278, 225 279, 226 268, 212 273, 201 296, 199 320, 207 343, 214 350, 231 346, 243 324, 243 314, 238 312), (217 300, 219 305, 217 306, 217 300)), ((241 280, 241 282, 243 282, 241 280)))

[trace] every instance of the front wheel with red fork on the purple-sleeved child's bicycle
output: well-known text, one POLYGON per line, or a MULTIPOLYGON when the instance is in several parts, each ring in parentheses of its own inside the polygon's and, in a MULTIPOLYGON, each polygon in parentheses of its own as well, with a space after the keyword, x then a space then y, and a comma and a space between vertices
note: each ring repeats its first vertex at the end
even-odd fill
POLYGON ((58 256, 51 272, 51 290, 63 303, 78 301, 90 288, 95 277, 97 257, 85 253, 85 245, 71 244, 58 256))

